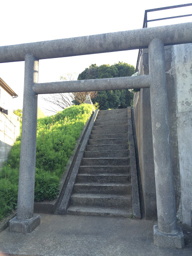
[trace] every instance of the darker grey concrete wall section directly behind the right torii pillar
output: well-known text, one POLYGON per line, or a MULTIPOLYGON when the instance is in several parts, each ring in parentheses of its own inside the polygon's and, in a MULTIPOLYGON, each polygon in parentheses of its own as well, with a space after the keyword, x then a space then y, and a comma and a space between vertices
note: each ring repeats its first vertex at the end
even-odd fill
MULTIPOLYGON (((173 75, 173 72, 171 71, 172 46, 165 46, 164 52, 175 203, 177 217, 182 220, 180 209, 180 175, 176 126, 176 90, 174 83, 175 77, 173 75)), ((143 49, 142 51, 142 56, 139 64, 139 74, 148 74, 148 49, 143 49)), ((150 92, 148 88, 142 88, 139 92, 135 93, 133 109, 137 133, 145 219, 154 219, 156 218, 156 193, 154 183, 154 162, 150 117, 150 92)))

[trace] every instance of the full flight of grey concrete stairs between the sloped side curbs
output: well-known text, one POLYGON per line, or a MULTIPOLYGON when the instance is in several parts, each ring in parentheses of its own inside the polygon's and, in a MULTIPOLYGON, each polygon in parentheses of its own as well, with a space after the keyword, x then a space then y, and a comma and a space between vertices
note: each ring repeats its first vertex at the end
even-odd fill
POLYGON ((67 214, 132 214, 127 109, 98 112, 67 214))

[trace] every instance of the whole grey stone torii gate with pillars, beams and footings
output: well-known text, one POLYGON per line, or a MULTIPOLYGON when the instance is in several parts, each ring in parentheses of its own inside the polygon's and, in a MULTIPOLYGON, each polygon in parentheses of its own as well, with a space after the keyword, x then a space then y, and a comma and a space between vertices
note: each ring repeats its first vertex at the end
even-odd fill
POLYGON ((36 152, 37 95, 41 93, 150 88, 152 140, 156 186, 157 220, 154 243, 158 246, 184 246, 177 227, 174 201, 164 45, 191 43, 192 22, 142 28, 66 39, 0 46, 0 62, 24 61, 24 94, 17 216, 9 230, 30 232, 40 223, 33 214, 36 152), (38 83, 38 60, 75 55, 147 48, 149 75, 38 83))

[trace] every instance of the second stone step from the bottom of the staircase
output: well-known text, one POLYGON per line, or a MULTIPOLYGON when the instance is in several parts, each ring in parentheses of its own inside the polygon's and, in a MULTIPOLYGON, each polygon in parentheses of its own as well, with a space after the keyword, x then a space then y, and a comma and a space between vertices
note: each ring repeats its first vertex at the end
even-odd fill
POLYGON ((76 206, 132 207, 131 195, 119 194, 74 193, 70 203, 76 206))

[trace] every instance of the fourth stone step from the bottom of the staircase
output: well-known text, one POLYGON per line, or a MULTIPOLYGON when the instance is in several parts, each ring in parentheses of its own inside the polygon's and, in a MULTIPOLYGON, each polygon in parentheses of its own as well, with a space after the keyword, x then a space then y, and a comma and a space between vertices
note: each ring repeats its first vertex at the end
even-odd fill
POLYGON ((130 181, 128 173, 78 173, 76 182, 125 183, 130 181))

